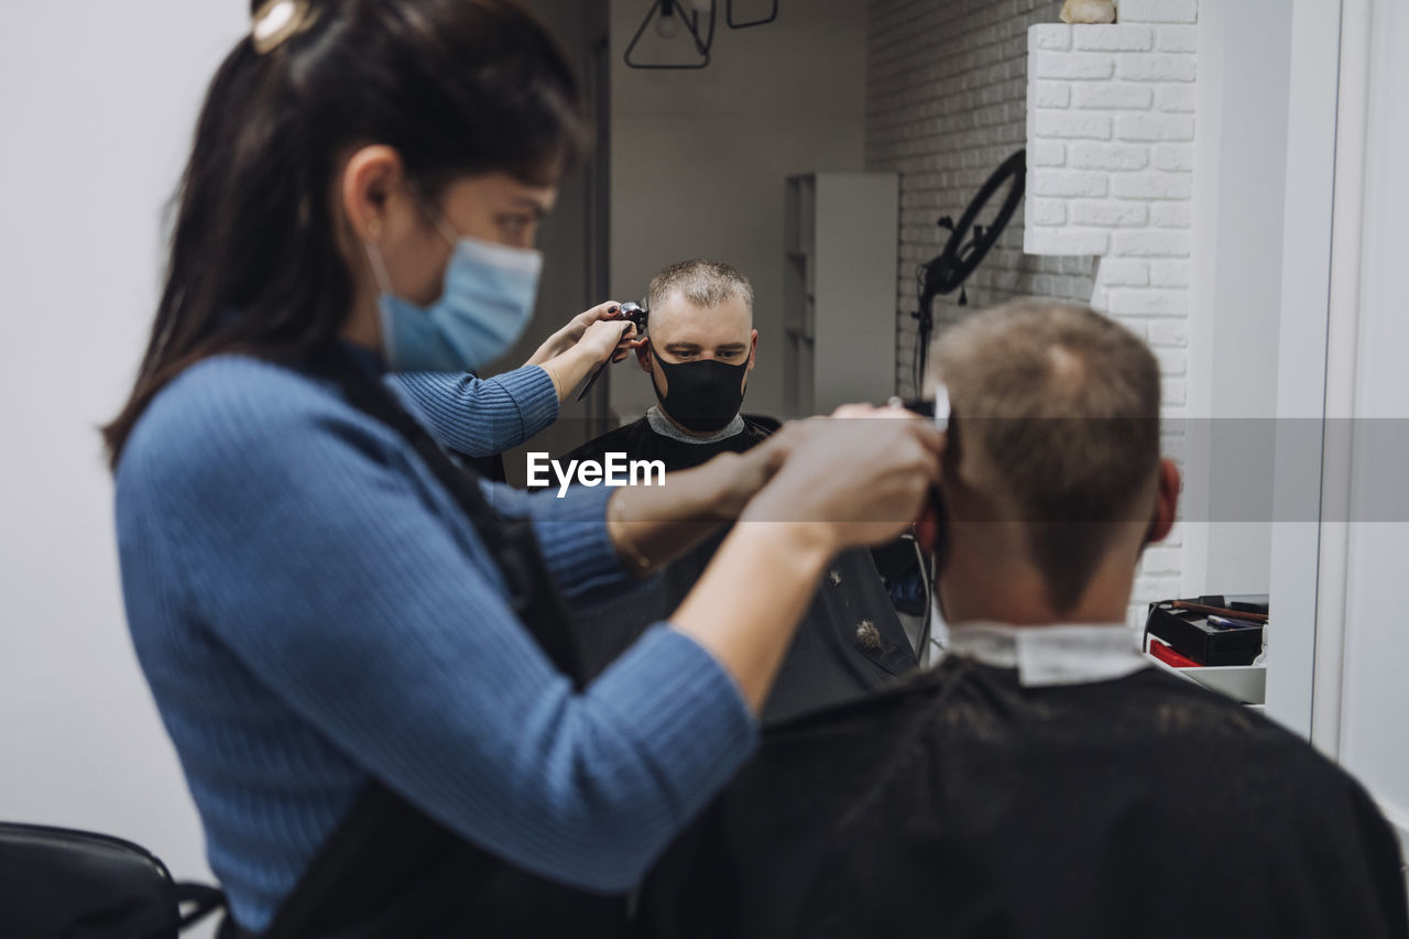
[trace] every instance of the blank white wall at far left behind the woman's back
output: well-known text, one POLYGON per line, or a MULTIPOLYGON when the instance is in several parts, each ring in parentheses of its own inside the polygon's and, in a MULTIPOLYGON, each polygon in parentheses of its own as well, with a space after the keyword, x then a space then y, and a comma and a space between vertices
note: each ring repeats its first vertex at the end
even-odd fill
POLYGON ((206 877, 127 637, 97 426, 156 302, 159 219, 238 3, 28 3, 0 30, 0 819, 137 840, 206 877))

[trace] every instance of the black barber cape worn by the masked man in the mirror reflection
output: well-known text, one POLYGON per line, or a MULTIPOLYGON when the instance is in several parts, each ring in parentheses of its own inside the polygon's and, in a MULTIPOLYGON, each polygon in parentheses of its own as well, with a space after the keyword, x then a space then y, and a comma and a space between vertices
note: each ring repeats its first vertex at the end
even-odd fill
MULTIPOLYGON (((657 433, 648 419, 589 440, 568 460, 604 461, 609 453, 627 460, 659 460, 666 472, 689 470, 721 453, 743 453, 768 438, 779 423, 743 416, 743 430, 712 443, 686 443, 657 433)), ((635 642, 651 623, 669 619, 695 587, 714 551, 720 533, 671 563, 650 587, 620 601, 576 613, 583 668, 596 675, 635 642)), ((823 577, 812 606, 797 626, 792 649, 764 708, 774 722, 820 706, 865 695, 890 684, 917 664, 910 640, 890 603, 869 551, 841 554, 823 577)))

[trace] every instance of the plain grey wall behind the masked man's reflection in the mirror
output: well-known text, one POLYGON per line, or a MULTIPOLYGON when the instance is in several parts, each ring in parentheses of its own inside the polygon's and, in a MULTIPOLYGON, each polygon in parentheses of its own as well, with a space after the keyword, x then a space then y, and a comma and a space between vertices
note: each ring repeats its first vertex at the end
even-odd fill
MULTIPOLYGON (((783 183, 862 168, 867 4, 785 1, 774 24, 721 24, 707 69, 628 69, 621 54, 650 7, 612 0, 612 295, 640 300, 651 276, 686 258, 737 266, 754 283, 758 329, 744 410, 776 415, 783 183)), ((652 403, 634 362, 613 369, 613 409, 637 417, 652 403)))

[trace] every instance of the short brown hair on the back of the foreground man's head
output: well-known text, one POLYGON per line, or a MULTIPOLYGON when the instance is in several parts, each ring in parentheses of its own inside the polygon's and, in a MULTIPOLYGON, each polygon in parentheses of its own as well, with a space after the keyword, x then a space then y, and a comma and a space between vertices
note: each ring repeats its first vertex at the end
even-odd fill
POLYGON ((1116 532, 1153 510, 1154 355, 1089 307, 1017 300, 944 333, 936 368, 954 413, 947 491, 1017 522, 1053 610, 1071 612, 1116 532))

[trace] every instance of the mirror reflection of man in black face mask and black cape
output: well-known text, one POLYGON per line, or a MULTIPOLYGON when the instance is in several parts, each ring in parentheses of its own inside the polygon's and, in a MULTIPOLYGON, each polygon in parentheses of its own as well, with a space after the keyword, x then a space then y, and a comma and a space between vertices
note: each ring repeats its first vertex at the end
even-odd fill
MULTIPOLYGON (((659 460, 666 471, 720 453, 743 453, 778 429, 772 417, 741 415, 758 331, 754 290, 734 268, 675 264, 651 281, 648 340, 637 350, 657 406, 641 420, 590 440, 565 460, 659 460)), ((579 618, 589 674, 604 668, 652 622, 669 618, 723 540, 679 558, 645 589, 579 618)), ((861 696, 917 664, 868 551, 838 557, 823 578, 764 711, 765 720, 861 696)))

